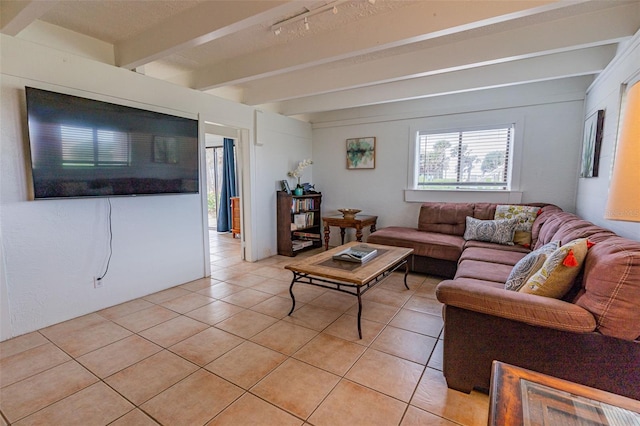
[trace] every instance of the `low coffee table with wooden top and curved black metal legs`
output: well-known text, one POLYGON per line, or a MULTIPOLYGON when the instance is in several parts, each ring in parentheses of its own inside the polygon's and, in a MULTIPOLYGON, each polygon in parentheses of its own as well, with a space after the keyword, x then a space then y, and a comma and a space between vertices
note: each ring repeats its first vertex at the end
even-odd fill
POLYGON ((285 269, 293 272, 293 280, 291 280, 291 286, 289 287, 292 301, 289 315, 293 313, 296 307, 296 299, 293 295, 293 285, 296 283, 309 284, 352 294, 358 297, 358 336, 362 339, 362 328, 360 326, 360 317, 362 314, 361 296, 402 266, 404 266, 404 286, 408 290, 407 274, 409 273, 409 265, 407 264, 407 258, 413 252, 413 249, 383 246, 380 244, 366 244, 368 247, 378 250, 377 256, 368 262, 360 264, 333 260, 332 257, 334 254, 361 244, 363 243, 352 241, 340 247, 286 265, 285 269))

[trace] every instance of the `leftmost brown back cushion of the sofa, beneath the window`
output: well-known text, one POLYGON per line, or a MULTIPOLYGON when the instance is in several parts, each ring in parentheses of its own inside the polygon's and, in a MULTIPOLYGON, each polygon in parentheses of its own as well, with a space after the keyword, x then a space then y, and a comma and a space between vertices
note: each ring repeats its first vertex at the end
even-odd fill
POLYGON ((462 236, 467 216, 473 216, 471 203, 424 203, 420 207, 418 230, 462 236))

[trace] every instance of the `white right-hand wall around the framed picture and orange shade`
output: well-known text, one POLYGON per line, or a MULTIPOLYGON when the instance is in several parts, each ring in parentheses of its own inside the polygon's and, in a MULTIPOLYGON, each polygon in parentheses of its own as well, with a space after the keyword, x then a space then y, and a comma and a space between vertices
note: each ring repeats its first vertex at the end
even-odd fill
MULTIPOLYGON (((640 223, 604 219, 609 183, 614 166, 618 138, 621 85, 640 78, 640 32, 611 64, 598 76, 587 91, 583 121, 595 111, 604 109, 604 128, 600 169, 597 178, 581 178, 578 182, 577 212, 585 219, 611 229, 627 238, 640 241, 640 223)), ((640 182, 637 185, 640 188, 640 182)), ((640 189, 630 196, 640 197, 640 189)))

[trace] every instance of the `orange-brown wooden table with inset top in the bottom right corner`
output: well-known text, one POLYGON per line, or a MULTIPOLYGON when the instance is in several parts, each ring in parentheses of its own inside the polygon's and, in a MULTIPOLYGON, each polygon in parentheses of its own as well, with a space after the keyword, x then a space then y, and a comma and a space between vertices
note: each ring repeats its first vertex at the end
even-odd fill
POLYGON ((490 426, 640 424, 640 401, 500 361, 489 393, 490 426))

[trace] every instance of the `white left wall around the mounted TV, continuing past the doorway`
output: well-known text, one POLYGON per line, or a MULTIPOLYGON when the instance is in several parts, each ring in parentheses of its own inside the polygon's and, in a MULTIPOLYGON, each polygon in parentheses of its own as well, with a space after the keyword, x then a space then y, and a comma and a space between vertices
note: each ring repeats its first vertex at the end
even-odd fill
POLYGON ((245 129, 241 149, 257 165, 243 170, 247 231, 255 234, 249 257, 274 251, 275 236, 252 232, 251 218, 259 212, 260 228, 275 227, 275 201, 265 198, 276 175, 297 161, 296 150, 310 152, 308 124, 268 115, 267 126, 287 134, 286 143, 274 136, 269 152, 256 150, 250 107, 30 41, 2 35, 0 43, 0 340, 203 277, 208 262, 202 196, 112 198, 113 257, 103 288, 94 289, 108 257, 108 202, 29 201, 25 85, 245 129))

